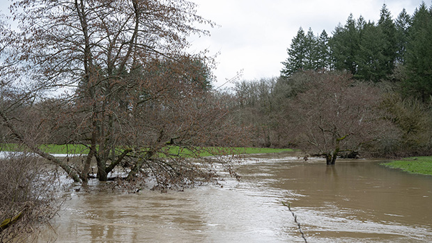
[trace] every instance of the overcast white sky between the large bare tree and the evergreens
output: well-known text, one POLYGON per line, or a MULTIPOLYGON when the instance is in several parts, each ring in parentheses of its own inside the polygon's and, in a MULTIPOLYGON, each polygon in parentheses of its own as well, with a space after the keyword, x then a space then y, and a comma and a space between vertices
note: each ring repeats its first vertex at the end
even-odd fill
MULTIPOLYGON (((198 4, 198 14, 219 28, 207 27, 209 37, 194 38, 192 51, 208 49, 219 53, 215 86, 243 70, 242 79, 279 76, 286 49, 300 26, 315 34, 324 29, 331 35, 345 24, 350 13, 377 22, 385 3, 392 17, 406 9, 412 15, 422 0, 190 0, 198 4)), ((431 1, 424 1, 431 6, 431 1)))

